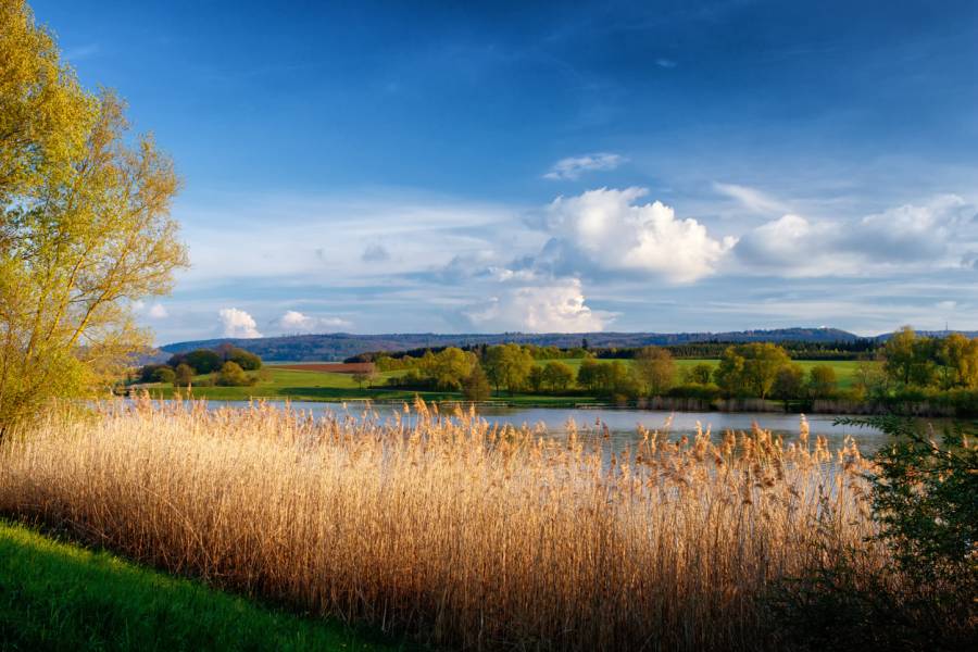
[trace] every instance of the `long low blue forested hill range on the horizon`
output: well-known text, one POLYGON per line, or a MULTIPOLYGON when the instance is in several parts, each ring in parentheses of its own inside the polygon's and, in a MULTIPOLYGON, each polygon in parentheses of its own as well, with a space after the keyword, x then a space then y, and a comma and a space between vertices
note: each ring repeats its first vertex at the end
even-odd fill
POLYGON ((384 335, 353 335, 330 333, 325 335, 291 335, 255 339, 222 338, 175 342, 161 348, 154 358, 193 349, 213 349, 230 342, 258 353, 264 360, 281 362, 310 362, 343 360, 366 351, 404 351, 436 347, 461 347, 516 342, 541 347, 577 347, 584 340, 594 348, 632 348, 649 344, 685 344, 691 342, 754 342, 804 341, 852 342, 862 339, 857 335, 838 328, 775 328, 769 330, 732 330, 727 333, 497 333, 497 334, 437 334, 394 333, 384 335))

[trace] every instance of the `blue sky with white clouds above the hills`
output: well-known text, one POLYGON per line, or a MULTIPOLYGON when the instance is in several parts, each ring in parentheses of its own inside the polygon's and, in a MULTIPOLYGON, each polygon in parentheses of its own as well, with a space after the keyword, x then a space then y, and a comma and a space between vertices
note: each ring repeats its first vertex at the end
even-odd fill
POLYGON ((34 0, 175 160, 159 343, 978 329, 978 3, 34 0))

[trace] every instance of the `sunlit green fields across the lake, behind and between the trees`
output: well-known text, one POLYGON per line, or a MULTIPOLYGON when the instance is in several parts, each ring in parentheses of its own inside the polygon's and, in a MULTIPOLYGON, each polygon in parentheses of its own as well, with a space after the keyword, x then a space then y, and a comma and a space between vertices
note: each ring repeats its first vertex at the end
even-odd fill
MULTIPOLYGON (((538 361, 537 364, 546 364, 548 361, 538 361)), ((581 359, 562 360, 575 369, 580 367, 581 359)), ((625 364, 631 364, 630 360, 623 360, 625 364)), ((705 363, 711 366, 717 365, 716 360, 677 360, 676 366, 681 372, 684 368, 691 367, 697 364, 705 363)), ((853 361, 797 361, 805 372, 815 365, 829 365, 836 369, 840 389, 848 389, 852 386, 853 375, 858 363, 853 361)), ((367 385, 361 387, 351 373, 334 373, 324 371, 334 368, 336 363, 279 363, 267 365, 271 372, 271 379, 259 381, 251 387, 203 387, 201 381, 204 377, 198 378, 198 384, 193 388, 193 396, 197 398, 206 398, 213 400, 248 400, 250 398, 269 398, 269 399, 289 399, 293 401, 343 401, 356 399, 372 399, 376 401, 411 401, 415 394, 419 394, 427 401, 446 401, 457 400, 459 393, 444 391, 405 391, 400 389, 388 389, 384 384, 388 378, 398 376, 404 372, 387 372, 378 375, 378 379, 374 388, 367 385), (303 367, 309 367, 305 369, 303 367)), ((343 365, 343 367, 349 365, 343 365)), ((150 392, 154 397, 171 398, 174 394, 172 387, 150 386, 150 392)), ((568 404, 567 398, 548 394, 509 394, 502 397, 507 403, 527 403, 527 404, 568 404)), ((575 402, 593 402, 595 397, 574 396, 569 399, 569 403, 575 402)))

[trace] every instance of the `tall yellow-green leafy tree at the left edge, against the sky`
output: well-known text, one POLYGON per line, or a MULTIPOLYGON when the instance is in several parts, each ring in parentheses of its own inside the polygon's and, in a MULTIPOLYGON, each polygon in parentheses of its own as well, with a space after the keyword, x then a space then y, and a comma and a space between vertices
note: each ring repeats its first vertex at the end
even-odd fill
POLYGON ((166 293, 187 254, 170 217, 170 159, 148 137, 127 145, 114 95, 78 95, 22 2, 3 3, 0 21, 0 70, 38 75, 24 87, 0 75, 2 436, 51 396, 83 394, 147 348, 131 304, 166 293), (34 63, 12 61, 22 58, 34 63), (28 115, 28 96, 45 89, 61 99, 28 115))

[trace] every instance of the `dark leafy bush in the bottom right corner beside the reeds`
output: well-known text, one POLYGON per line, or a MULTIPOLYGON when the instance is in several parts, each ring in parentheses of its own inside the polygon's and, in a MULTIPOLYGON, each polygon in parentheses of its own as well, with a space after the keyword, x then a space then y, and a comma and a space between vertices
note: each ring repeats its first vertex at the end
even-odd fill
MULTIPOLYGON (((874 544, 826 546, 786 580, 772 607, 785 642, 804 649, 964 650, 978 637, 978 447, 975 431, 898 417, 841 419, 893 438, 874 459, 874 544)), ((828 510, 818 522, 833 518, 828 510)))

